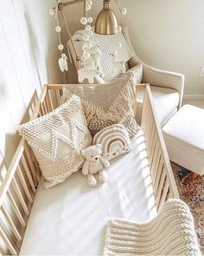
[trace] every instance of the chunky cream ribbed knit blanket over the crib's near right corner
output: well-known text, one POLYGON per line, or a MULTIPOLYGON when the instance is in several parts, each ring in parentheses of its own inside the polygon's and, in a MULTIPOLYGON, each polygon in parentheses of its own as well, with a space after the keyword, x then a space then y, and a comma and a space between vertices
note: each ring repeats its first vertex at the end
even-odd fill
POLYGON ((145 224, 110 220, 104 255, 201 255, 188 206, 169 200, 145 224))

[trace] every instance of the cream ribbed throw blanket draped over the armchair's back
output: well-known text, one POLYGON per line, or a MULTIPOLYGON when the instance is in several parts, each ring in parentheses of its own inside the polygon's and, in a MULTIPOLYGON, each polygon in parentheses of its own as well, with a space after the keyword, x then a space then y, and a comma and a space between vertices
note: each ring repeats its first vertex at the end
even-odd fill
MULTIPOLYGON (((73 35, 73 41, 82 41, 83 36, 86 34, 86 30, 79 30, 73 35)), ((118 61, 127 62, 134 56, 134 51, 131 49, 126 42, 123 33, 118 33, 116 35, 99 35, 93 33, 92 41, 99 43, 102 56, 99 58, 99 69, 103 75, 108 75, 110 70, 112 70, 112 60, 110 53, 114 53, 118 47, 118 43, 121 43, 122 47, 118 49, 118 61)))

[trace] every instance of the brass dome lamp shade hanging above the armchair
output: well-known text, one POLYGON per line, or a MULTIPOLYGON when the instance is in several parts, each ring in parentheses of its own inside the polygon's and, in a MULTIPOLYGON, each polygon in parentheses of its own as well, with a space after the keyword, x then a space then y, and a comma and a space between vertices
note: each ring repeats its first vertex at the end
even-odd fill
POLYGON ((95 23, 95 33, 100 35, 117 34, 118 21, 110 8, 111 0, 104 1, 104 8, 99 12, 95 23))

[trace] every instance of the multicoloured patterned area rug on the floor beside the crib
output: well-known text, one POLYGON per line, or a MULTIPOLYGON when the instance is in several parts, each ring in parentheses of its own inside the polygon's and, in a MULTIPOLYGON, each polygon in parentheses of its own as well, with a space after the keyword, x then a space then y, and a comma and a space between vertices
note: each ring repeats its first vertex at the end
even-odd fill
POLYGON ((194 216, 201 251, 204 253, 204 176, 196 175, 174 162, 171 162, 171 166, 181 199, 188 204, 194 216))

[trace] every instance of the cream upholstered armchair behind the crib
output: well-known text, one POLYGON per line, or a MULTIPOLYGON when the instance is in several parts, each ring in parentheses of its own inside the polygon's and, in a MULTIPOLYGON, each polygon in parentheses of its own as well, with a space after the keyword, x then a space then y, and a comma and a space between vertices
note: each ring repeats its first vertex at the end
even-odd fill
MULTIPOLYGON (((131 49, 131 39, 127 27, 123 28, 123 34, 130 45, 131 49)), ((79 56, 82 55, 82 42, 74 42, 76 49, 78 50, 79 56)), ((71 55, 73 56, 73 62, 76 69, 78 65, 76 62, 76 56, 70 41, 67 43, 67 48, 70 50, 71 55)), ((135 53, 135 52, 134 52, 135 53)), ((161 126, 169 121, 169 119, 175 115, 175 112, 182 105, 182 95, 184 87, 184 75, 163 71, 160 69, 155 69, 144 63, 135 53, 133 57, 127 62, 126 66, 128 69, 131 69, 135 65, 142 63, 143 64, 143 83, 150 83, 150 88, 153 95, 153 101, 155 103, 156 114, 158 121, 161 126)), ((98 81, 99 82, 99 81, 98 81)), ((102 81, 103 82, 103 81, 102 81)), ((140 123, 142 115, 142 104, 143 104, 143 95, 137 96, 137 122, 140 123)))

